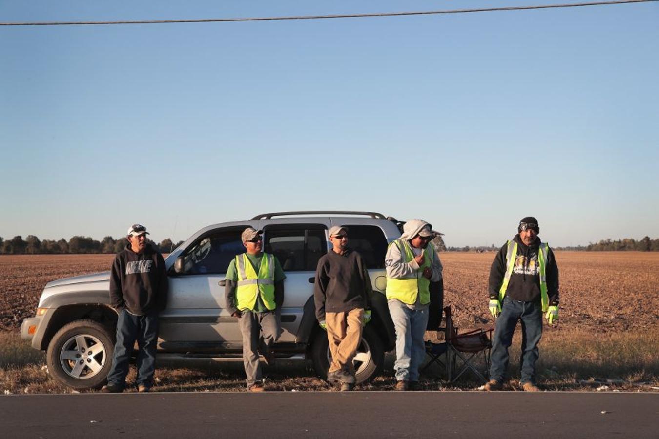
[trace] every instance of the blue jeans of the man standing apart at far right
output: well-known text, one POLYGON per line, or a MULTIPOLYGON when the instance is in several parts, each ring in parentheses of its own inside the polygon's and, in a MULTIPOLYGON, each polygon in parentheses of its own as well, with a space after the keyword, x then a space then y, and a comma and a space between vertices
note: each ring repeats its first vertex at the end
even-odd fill
POLYGON ((492 340, 490 378, 503 382, 508 369, 508 348, 513 342, 517 322, 522 325, 522 353, 519 359, 521 384, 535 384, 535 363, 538 360, 538 342, 542 337, 542 307, 540 302, 521 302, 503 297, 501 314, 496 319, 492 340))

